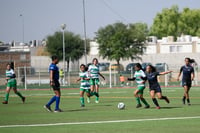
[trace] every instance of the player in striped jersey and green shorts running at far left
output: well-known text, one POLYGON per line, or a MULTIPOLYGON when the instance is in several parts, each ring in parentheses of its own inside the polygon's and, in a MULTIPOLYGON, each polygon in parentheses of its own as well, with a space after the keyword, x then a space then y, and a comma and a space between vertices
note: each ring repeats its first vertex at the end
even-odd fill
POLYGON ((7 69, 6 69, 6 94, 5 94, 5 100, 2 102, 3 104, 8 104, 8 98, 9 98, 9 93, 10 90, 13 89, 16 95, 18 95, 21 99, 22 102, 25 102, 25 97, 22 96, 22 94, 17 91, 17 81, 15 79, 16 75, 14 70, 11 68, 10 64, 7 64, 7 69))

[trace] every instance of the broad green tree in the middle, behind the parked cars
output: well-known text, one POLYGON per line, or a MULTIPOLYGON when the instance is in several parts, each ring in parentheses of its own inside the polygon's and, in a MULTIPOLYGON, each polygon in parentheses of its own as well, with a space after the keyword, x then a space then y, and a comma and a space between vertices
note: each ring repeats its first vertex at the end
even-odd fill
POLYGON ((121 59, 138 59, 143 54, 147 33, 147 25, 142 23, 114 23, 100 28, 96 33, 99 55, 116 60, 118 65, 121 59))

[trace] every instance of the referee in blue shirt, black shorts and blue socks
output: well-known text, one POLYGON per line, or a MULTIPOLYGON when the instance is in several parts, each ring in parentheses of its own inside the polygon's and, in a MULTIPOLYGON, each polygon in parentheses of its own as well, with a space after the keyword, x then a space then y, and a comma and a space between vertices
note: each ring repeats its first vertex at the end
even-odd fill
POLYGON ((56 55, 53 55, 51 57, 51 59, 52 59, 52 63, 49 66, 50 85, 53 88, 55 96, 53 96, 50 99, 50 101, 46 105, 44 105, 44 108, 47 111, 52 112, 51 104, 56 102, 54 112, 62 112, 62 110, 59 108, 60 96, 61 96, 60 83, 59 83, 59 68, 56 66, 56 64, 58 64, 59 60, 58 60, 58 57, 56 55))

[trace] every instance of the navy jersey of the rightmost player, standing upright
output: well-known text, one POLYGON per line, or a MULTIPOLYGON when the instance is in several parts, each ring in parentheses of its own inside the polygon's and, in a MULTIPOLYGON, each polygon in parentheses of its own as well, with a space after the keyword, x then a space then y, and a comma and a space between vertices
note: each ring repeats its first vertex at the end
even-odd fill
POLYGON ((180 73, 183 72, 182 80, 183 81, 191 81, 191 74, 194 73, 194 68, 192 66, 182 66, 180 69, 180 73))

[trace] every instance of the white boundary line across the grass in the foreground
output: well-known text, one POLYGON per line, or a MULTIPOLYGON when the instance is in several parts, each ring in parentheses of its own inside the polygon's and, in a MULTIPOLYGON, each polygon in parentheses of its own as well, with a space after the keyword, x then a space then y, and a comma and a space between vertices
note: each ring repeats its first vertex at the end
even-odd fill
POLYGON ((152 118, 152 119, 133 119, 133 120, 113 120, 113 121, 94 121, 94 122, 69 122, 69 123, 52 123, 52 124, 4 125, 4 126, 0 126, 0 128, 46 127, 46 126, 62 126, 62 125, 85 125, 85 124, 105 124, 105 123, 143 122, 143 121, 165 121, 165 120, 185 120, 185 119, 200 119, 200 116, 152 118))

